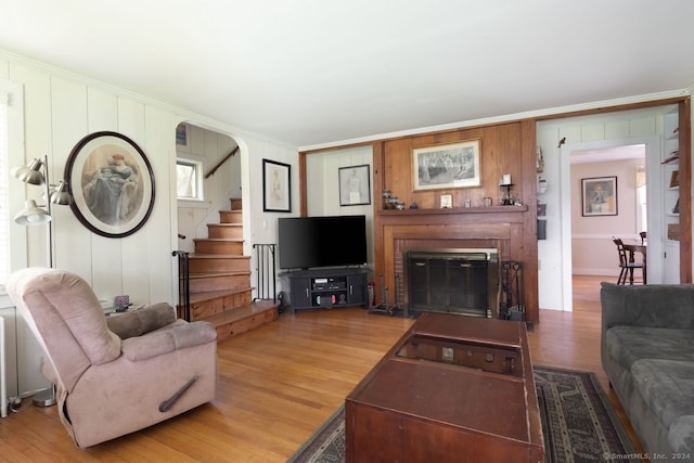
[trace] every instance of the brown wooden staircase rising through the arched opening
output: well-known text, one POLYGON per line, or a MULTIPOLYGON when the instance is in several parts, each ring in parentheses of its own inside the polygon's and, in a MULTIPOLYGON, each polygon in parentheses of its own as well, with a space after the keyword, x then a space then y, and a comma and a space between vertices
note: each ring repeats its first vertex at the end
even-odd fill
MULTIPOLYGON (((217 342, 277 320, 279 304, 253 300, 250 257, 243 255, 241 200, 219 211, 219 223, 207 224, 206 239, 195 239, 189 256, 191 321, 217 329, 217 342)), ((178 307, 182 317, 183 307, 178 307)))

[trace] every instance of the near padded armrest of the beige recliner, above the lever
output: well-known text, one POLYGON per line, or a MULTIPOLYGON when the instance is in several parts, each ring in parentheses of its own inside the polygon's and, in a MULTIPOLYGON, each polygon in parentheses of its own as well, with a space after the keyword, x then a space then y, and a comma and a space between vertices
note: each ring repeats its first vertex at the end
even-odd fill
POLYGON ((187 347, 216 342, 217 330, 209 322, 181 323, 169 330, 129 337, 120 345, 123 355, 130 361, 152 359, 187 347))

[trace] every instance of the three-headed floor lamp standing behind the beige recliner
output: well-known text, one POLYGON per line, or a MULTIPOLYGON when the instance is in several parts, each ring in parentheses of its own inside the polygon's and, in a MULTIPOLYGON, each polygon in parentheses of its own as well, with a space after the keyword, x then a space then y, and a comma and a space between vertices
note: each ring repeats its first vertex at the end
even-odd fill
MULTIPOLYGON (((51 204, 69 205, 73 197, 69 194, 67 183, 61 180, 52 185, 49 181, 48 156, 43 160, 34 158, 28 166, 13 169, 12 175, 25 183, 43 185, 46 195, 46 206, 38 206, 34 200, 27 200, 24 209, 14 216, 14 221, 21 226, 48 224, 47 248, 48 263, 53 267, 53 223, 51 216, 51 204), (46 209, 43 208, 46 207, 46 209)), ((55 404, 55 386, 42 390, 33 397, 37 407, 50 407, 55 404)))

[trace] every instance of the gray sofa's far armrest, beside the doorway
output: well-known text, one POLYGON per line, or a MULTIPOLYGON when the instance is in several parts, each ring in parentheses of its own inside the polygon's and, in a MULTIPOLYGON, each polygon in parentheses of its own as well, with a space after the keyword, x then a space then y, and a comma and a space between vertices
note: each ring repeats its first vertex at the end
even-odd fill
POLYGON ((601 283, 603 332, 615 325, 694 329, 694 285, 601 283))

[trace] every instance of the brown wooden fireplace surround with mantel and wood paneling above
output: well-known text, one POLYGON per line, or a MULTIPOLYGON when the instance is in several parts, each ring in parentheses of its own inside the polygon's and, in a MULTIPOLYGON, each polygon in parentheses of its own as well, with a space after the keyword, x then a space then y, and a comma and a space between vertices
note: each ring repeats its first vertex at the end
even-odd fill
MULTIPOLYGON (((523 294, 528 321, 539 320, 536 121, 509 121, 481 127, 465 127, 440 132, 396 137, 372 143, 373 191, 387 190, 406 205, 416 208, 391 210, 374 204, 374 280, 389 288, 388 303, 396 293, 404 304, 406 283, 402 267, 408 249, 492 248, 499 261, 523 263, 523 294), (421 189, 413 175, 413 150, 478 140, 480 178, 470 188, 421 189), (513 197, 522 206, 501 206, 503 191, 499 179, 510 175, 513 197), (444 203, 444 197, 448 201, 444 203), (492 205, 485 207, 485 198, 492 205), (450 204, 450 208, 444 208, 450 204), (398 279, 396 279, 398 274, 398 279)), ((377 292, 376 294, 380 294, 377 292)))

